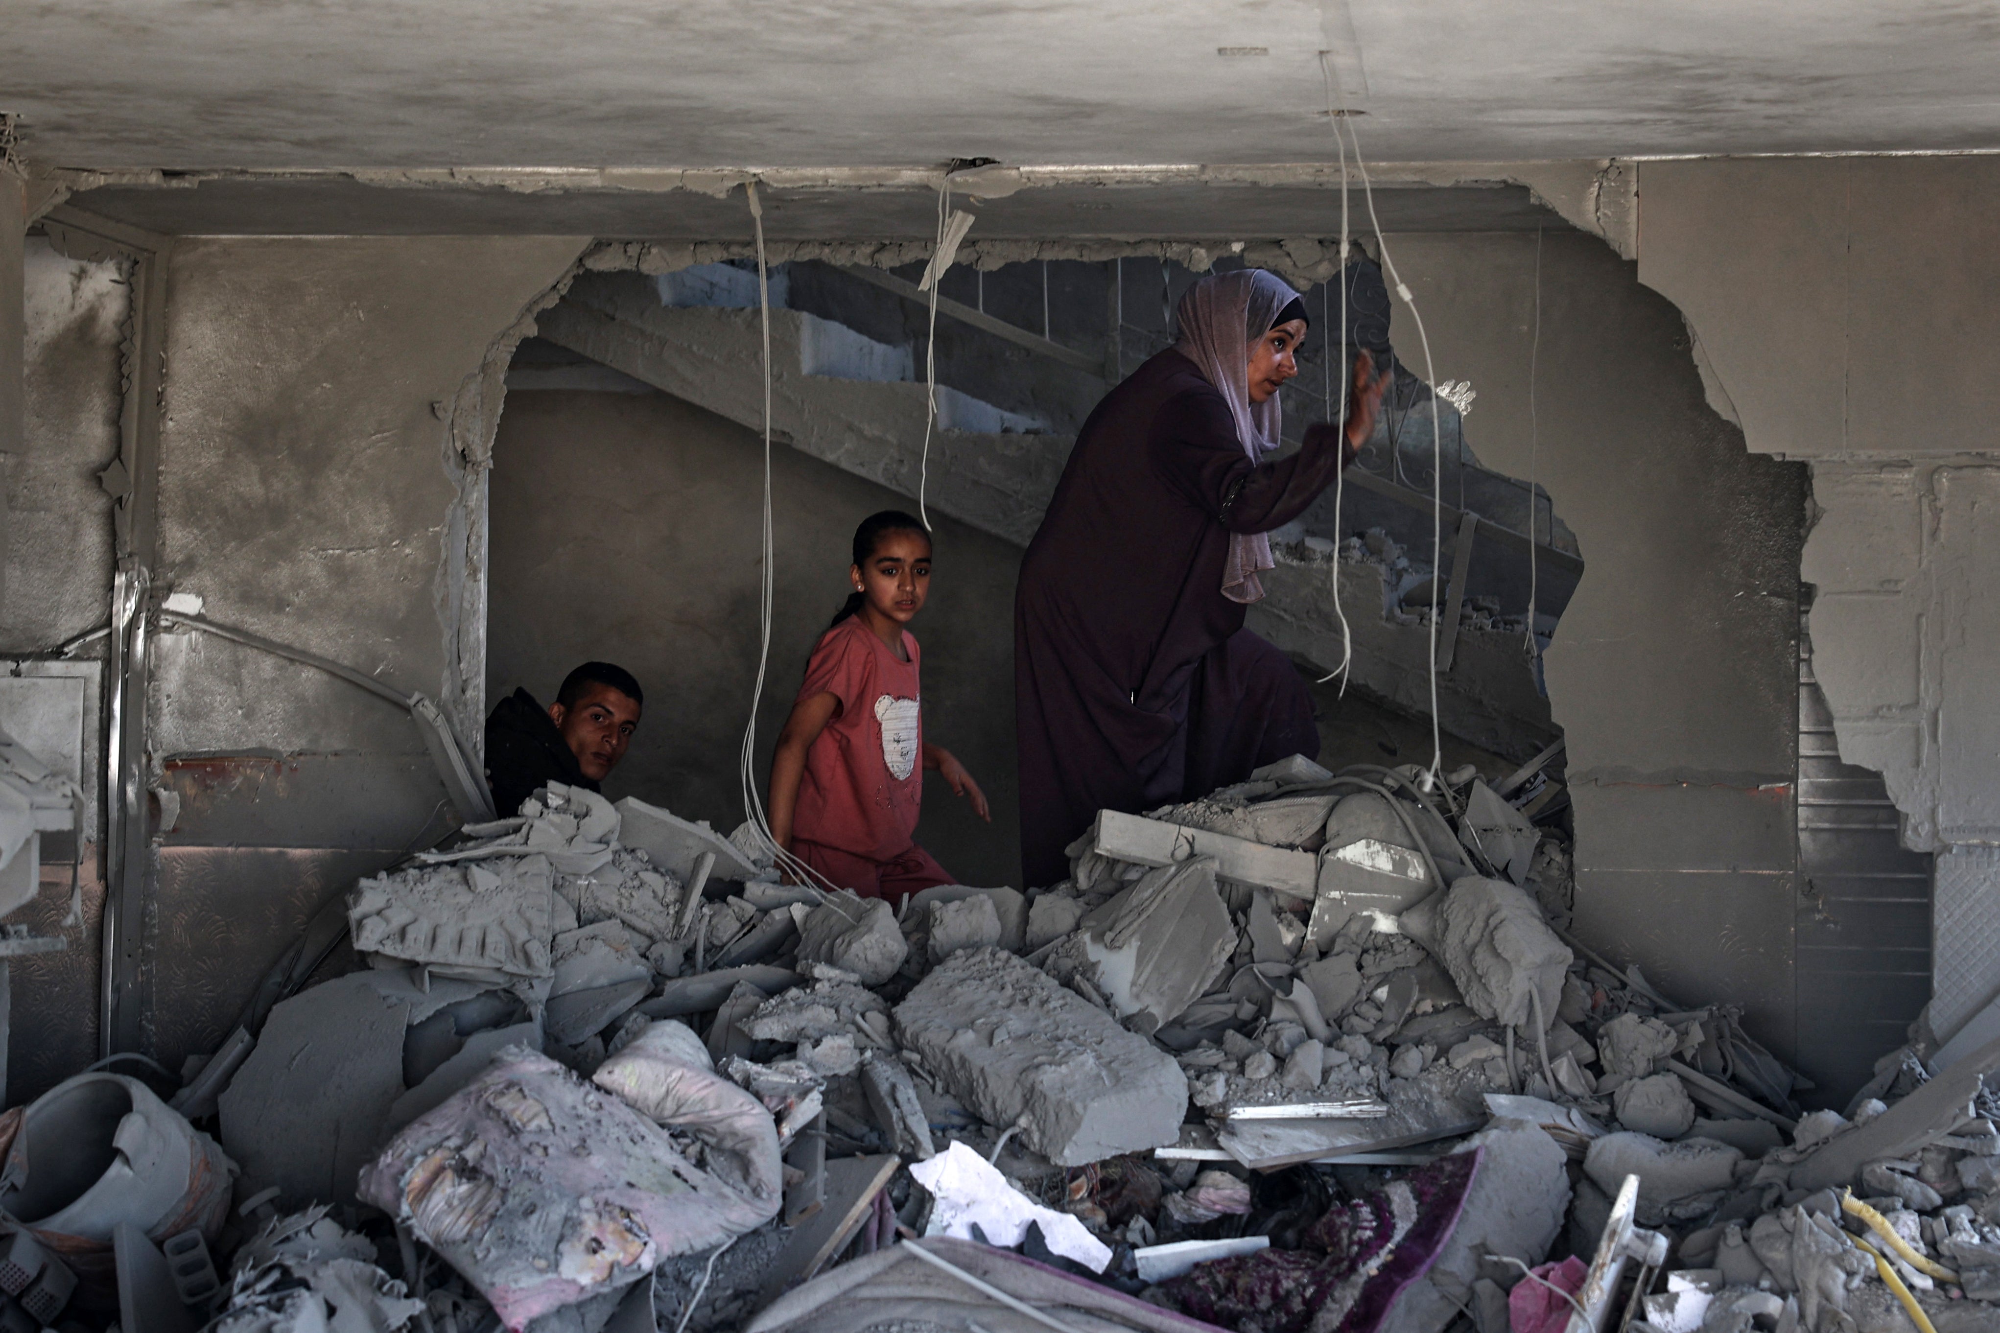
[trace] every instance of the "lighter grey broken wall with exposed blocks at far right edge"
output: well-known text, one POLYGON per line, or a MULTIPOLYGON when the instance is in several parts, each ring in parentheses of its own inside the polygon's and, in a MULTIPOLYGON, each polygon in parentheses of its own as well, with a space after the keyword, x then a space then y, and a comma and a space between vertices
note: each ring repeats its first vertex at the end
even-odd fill
POLYGON ((1936 851, 1932 1027, 2000 993, 2000 162, 1648 162, 1640 280, 1748 446, 1808 460, 1840 757, 1936 851))

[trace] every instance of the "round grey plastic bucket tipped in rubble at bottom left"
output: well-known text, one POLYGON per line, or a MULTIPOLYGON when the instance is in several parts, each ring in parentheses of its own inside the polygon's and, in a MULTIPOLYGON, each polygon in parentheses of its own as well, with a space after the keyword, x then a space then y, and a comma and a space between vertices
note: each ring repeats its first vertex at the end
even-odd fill
POLYGON ((28 1105, 0 1171, 0 1209, 78 1277, 108 1277, 120 1223, 214 1235, 234 1167, 138 1079, 80 1073, 28 1105))

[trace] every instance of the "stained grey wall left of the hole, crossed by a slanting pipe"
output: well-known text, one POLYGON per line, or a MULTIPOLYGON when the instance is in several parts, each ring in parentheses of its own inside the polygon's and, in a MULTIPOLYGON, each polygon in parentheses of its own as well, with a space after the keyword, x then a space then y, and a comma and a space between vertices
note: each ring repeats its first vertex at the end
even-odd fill
MULTIPOLYGON (((464 420, 498 412, 484 380, 498 390, 512 344, 496 344, 582 248, 176 246, 160 584, 398 691, 478 701, 454 677, 464 608, 484 608, 484 550, 468 550, 484 444, 464 420)), ((154 1053, 174 1063, 212 1049, 328 895, 442 833, 452 807, 402 709, 226 640, 162 634, 150 711, 164 845, 146 981, 154 1053)))

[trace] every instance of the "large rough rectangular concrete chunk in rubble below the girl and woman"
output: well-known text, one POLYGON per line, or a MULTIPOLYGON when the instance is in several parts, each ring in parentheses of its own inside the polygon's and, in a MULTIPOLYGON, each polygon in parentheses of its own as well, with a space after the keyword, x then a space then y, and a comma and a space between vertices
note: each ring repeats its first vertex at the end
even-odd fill
POLYGON ((988 1125, 1020 1123, 1056 1165, 1180 1137, 1188 1081, 1172 1055, 1000 949, 954 953, 896 1005, 926 1073, 988 1125))

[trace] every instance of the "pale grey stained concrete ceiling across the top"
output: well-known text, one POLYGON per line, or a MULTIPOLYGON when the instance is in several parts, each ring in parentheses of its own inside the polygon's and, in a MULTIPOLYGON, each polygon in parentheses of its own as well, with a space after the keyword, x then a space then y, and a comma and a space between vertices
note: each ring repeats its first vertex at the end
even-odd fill
POLYGON ((0 0, 70 168, 920 166, 2000 148, 1954 0, 0 0), (1218 48, 1268 54, 1218 54, 1218 48))

